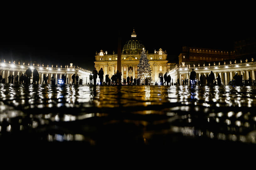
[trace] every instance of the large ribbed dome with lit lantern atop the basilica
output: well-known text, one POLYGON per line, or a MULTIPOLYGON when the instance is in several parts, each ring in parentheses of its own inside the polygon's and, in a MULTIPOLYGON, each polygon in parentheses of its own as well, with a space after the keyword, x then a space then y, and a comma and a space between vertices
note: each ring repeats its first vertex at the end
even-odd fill
POLYGON ((136 32, 133 29, 133 32, 131 33, 131 40, 125 42, 122 54, 140 54, 142 48, 145 47, 139 40, 137 40, 136 32))

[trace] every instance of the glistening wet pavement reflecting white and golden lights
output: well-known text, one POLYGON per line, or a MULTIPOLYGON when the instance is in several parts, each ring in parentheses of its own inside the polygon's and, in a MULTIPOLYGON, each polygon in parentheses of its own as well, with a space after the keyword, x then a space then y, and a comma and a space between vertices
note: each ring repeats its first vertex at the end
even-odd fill
POLYGON ((253 86, 0 84, 0 139, 7 133, 41 132, 35 138, 95 145, 106 136, 93 134, 109 134, 109 140, 120 141, 121 134, 129 133, 134 141, 141 136, 142 143, 151 144, 159 141, 159 135, 168 140, 182 134, 199 141, 254 144, 254 96, 253 86))

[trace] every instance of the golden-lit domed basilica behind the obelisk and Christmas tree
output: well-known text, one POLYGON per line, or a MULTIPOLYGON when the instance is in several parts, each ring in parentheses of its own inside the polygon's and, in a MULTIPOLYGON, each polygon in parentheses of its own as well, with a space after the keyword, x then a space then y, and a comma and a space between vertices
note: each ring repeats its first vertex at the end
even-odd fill
MULTIPOLYGON (((121 70, 122 73, 121 80, 123 82, 124 78, 138 77, 138 63, 141 57, 141 51, 145 48, 143 44, 137 39, 136 32, 133 30, 131 34, 131 39, 127 41, 121 51, 121 70)), ((147 54, 147 59, 152 70, 152 83, 159 82, 159 77, 170 70, 171 64, 168 64, 167 53, 163 49, 154 51, 153 54, 147 54)), ((103 68, 104 71, 104 81, 105 75, 108 74, 109 78, 112 77, 117 72, 117 54, 109 54, 107 51, 101 50, 99 53, 96 52, 95 55, 95 68, 97 71, 103 68)))

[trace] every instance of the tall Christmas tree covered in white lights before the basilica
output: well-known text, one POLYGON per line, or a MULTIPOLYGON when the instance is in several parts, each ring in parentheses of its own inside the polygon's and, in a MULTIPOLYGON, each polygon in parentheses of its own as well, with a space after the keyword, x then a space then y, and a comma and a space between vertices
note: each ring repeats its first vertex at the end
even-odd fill
POLYGON ((148 63, 147 55, 145 49, 143 48, 141 52, 140 63, 138 64, 138 78, 140 78, 141 84, 145 84, 145 79, 148 79, 148 83, 151 83, 151 68, 148 63))

